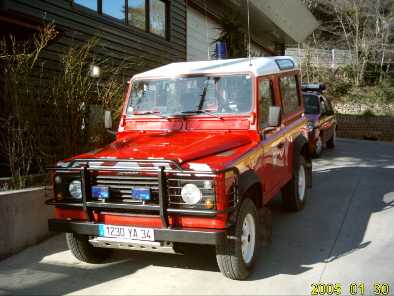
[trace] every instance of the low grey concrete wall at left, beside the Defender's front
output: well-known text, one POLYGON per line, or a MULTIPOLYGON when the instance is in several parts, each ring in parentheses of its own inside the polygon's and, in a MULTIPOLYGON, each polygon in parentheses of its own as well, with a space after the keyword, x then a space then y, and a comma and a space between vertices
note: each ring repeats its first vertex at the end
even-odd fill
POLYGON ((0 192, 0 259, 57 234, 48 231, 47 220, 56 216, 44 195, 44 187, 0 192))

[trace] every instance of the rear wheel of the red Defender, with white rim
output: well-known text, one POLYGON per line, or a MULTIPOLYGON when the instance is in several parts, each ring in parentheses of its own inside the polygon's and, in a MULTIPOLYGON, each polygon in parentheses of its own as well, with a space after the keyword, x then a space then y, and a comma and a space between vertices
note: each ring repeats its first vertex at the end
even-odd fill
POLYGON ((306 162, 299 155, 296 175, 282 188, 282 200, 289 211, 300 211, 306 202, 306 162))

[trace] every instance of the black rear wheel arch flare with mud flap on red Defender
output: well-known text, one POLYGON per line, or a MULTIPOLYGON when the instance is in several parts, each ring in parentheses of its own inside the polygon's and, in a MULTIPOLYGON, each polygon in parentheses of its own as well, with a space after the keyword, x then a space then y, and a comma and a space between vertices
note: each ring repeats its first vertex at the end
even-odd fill
POLYGON ((306 162, 306 183, 312 188, 312 158, 309 151, 309 142, 304 135, 298 135, 293 142, 292 175, 297 174, 299 155, 303 155, 306 162))

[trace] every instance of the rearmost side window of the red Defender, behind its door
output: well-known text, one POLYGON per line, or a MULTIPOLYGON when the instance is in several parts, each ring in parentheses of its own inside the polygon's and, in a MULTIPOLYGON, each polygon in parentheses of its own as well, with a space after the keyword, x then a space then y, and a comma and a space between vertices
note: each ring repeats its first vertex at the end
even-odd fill
POLYGON ((301 106, 297 88, 297 76, 281 76, 279 77, 280 95, 282 99, 283 113, 288 113, 298 106, 301 106))

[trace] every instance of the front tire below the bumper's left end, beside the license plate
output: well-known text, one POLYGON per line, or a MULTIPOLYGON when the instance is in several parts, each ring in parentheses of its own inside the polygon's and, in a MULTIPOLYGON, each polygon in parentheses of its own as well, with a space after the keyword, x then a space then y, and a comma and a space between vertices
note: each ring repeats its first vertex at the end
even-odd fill
POLYGON ((97 248, 89 242, 89 236, 78 233, 66 233, 68 249, 80 261, 97 263, 109 257, 112 249, 97 248))

